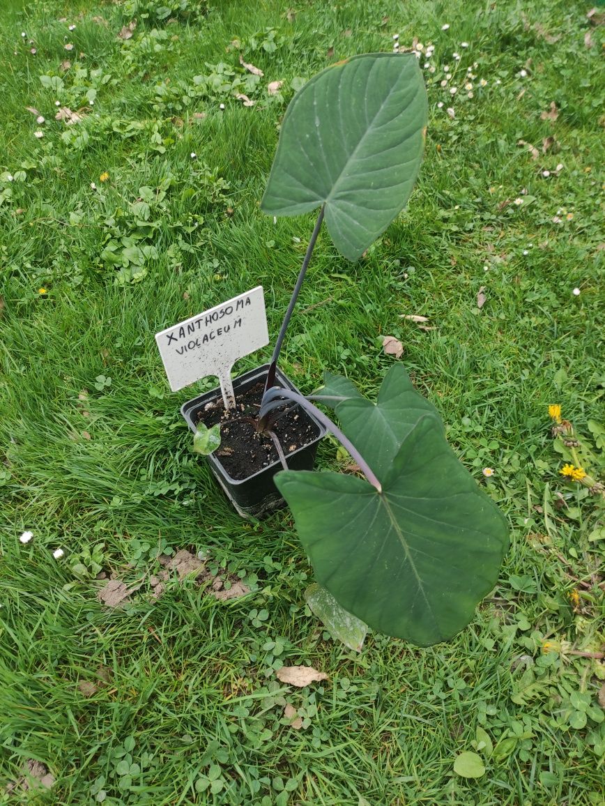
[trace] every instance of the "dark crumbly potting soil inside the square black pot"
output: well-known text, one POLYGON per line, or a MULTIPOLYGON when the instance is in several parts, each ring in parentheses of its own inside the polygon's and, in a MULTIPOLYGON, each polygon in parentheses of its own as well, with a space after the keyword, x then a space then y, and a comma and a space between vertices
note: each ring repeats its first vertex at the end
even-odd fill
MULTIPOLYGON (((196 424, 203 422, 208 428, 226 422, 221 426, 221 446, 213 455, 236 481, 247 479, 280 459, 271 437, 257 433, 250 422, 239 422, 241 418, 258 417, 263 391, 264 382, 260 380, 244 392, 236 393, 235 410, 226 410, 219 397, 197 414, 196 424)), ((316 424, 300 406, 284 414, 273 426, 273 432, 280 440, 286 462, 288 454, 309 445, 319 435, 316 424)))

